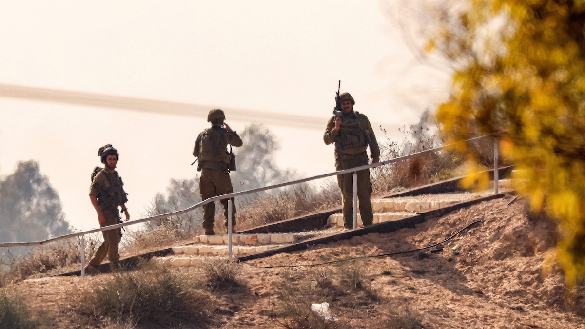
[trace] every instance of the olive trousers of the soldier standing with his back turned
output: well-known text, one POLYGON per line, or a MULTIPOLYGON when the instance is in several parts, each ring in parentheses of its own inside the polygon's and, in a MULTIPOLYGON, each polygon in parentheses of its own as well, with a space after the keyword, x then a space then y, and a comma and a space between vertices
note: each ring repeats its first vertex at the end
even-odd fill
MULTIPOLYGON (((218 169, 201 169, 201 178, 199 179, 199 192, 201 200, 222 196, 223 194, 233 193, 232 180, 229 178, 228 170, 218 169)), ((232 200, 232 225, 236 226, 236 207, 232 200)), ((223 215, 225 221, 223 225, 228 227, 228 199, 221 200, 223 205, 223 215)), ((215 217, 215 202, 203 206, 203 228, 213 228, 215 217)))

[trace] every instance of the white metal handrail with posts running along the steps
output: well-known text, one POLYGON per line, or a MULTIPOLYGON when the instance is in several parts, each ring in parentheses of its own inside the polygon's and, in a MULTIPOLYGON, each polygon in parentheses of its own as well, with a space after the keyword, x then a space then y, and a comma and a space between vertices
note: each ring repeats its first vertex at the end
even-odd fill
MULTIPOLYGON (((472 142, 473 140, 478 140, 481 138, 486 138, 488 136, 492 136, 492 135, 496 135, 498 133, 491 133, 488 135, 483 135, 483 136, 479 136, 476 138, 471 138, 471 139, 467 139, 465 142, 472 142)), ((384 166, 384 165, 389 165, 390 163, 394 163, 394 162, 398 162, 401 160, 406 160, 409 159, 411 157, 415 157, 415 156, 421 156, 424 155, 426 153, 431 153, 431 152, 436 152, 438 150, 443 150, 443 149, 447 149, 450 148, 452 146, 456 145, 455 143, 451 143, 448 145, 443 145, 443 146, 438 146, 436 148, 432 148, 432 149, 428 149, 428 150, 422 150, 420 152, 415 152, 415 153, 411 153, 409 155, 405 155, 405 156, 400 156, 400 157, 395 157, 394 159, 390 159, 390 160, 386 160, 386 161, 382 161, 382 162, 377 162, 377 163, 371 163, 369 165, 363 165, 363 166, 359 166, 359 167, 354 167, 354 168, 350 168, 350 169, 345 169, 345 170, 339 170, 338 172, 332 172, 332 173, 327 173, 327 174, 321 174, 321 175, 317 175, 317 176, 312 176, 312 177, 308 177, 305 179, 298 179, 298 180, 292 180, 292 181, 288 181, 285 183, 280 183, 280 184, 273 184, 270 186, 265 186, 265 187, 257 187, 255 189, 249 189, 249 190, 245 190, 245 191, 240 191, 240 192, 234 192, 234 193, 229 193, 229 194, 223 194, 222 196, 216 196, 216 197, 212 197, 212 198, 208 198, 204 201, 201 201, 197 204, 191 205, 191 207, 185 208, 183 210, 177 210, 177 211, 173 211, 172 213, 167 213, 167 214, 160 214, 160 215, 155 215, 152 217, 146 217, 146 218, 142 218, 140 220, 135 220, 135 221, 129 221, 129 222, 122 222, 120 224, 115 224, 115 225, 108 225, 106 227, 100 227, 100 228, 94 228, 94 229, 90 229, 88 231, 83 231, 83 232, 77 232, 77 233, 71 233, 71 234, 66 234, 66 235, 61 235, 60 237, 54 237, 54 238, 50 238, 50 239, 45 239, 42 241, 36 241, 36 242, 0 242, 0 247, 9 247, 9 246, 36 246, 36 245, 44 245, 44 244, 48 244, 50 242, 55 242, 55 241, 60 241, 60 240, 64 240, 64 239, 71 239, 71 238, 76 238, 76 237, 83 237, 84 235, 87 234, 92 234, 92 233, 96 233, 96 232, 101 232, 101 231, 107 231, 109 229, 115 229, 115 228, 122 228, 122 227, 126 227, 129 225, 135 225, 135 224, 140 224, 143 222, 148 222, 148 221, 156 221, 156 220, 160 220, 162 218, 166 218, 166 217, 171 217, 171 216, 177 216, 177 215, 181 215, 181 214, 185 214, 188 213, 192 210, 195 210, 196 208, 201 207, 202 205, 211 203, 211 202, 215 202, 215 201, 219 201, 219 200, 223 200, 226 198, 235 198, 238 196, 243 196, 246 194, 251 194, 251 193, 257 193, 257 192, 261 192, 261 191, 266 191, 266 190, 272 190, 272 189, 278 189, 279 187, 284 187, 284 186, 290 186, 290 185, 294 185, 294 184, 300 184, 300 183, 305 183, 307 181, 311 181, 311 180, 316 180, 316 179, 323 179, 326 177, 331 177, 331 176, 337 176, 339 174, 347 174, 347 173, 354 173, 354 207, 353 207, 353 225, 354 228, 356 228, 357 226, 357 213, 356 213, 356 172, 359 172, 360 170, 364 170, 364 169, 370 169, 370 168, 374 168, 374 167, 379 167, 379 166, 384 166)), ((495 152, 494 152, 494 166, 495 166, 495 171, 497 172, 497 167, 498 167, 498 148, 497 148, 497 140, 494 144, 495 147, 495 152)), ((495 176, 497 177, 497 176, 495 176)), ((497 180, 494 181, 494 190, 497 191, 498 189, 498 182, 497 180)), ((229 213, 232 211, 232 203, 229 202, 229 213)), ((228 217, 232 217, 232 214, 228 214, 228 217)), ((231 235, 232 235, 232 229, 229 227, 231 226, 231 222, 232 221, 228 221, 229 225, 228 225, 228 235, 229 235, 229 240, 231 242, 231 235)), ((83 241, 83 238, 82 238, 83 241)), ((83 242, 82 242, 83 243, 83 242)), ((229 246, 231 246, 231 244, 229 243, 229 246)), ((231 255, 231 248, 229 248, 229 254, 231 255)), ((83 252, 82 252, 83 253, 83 252)), ((84 269, 84 264, 81 264, 81 269, 82 269, 82 275, 83 275, 83 269, 84 269)))

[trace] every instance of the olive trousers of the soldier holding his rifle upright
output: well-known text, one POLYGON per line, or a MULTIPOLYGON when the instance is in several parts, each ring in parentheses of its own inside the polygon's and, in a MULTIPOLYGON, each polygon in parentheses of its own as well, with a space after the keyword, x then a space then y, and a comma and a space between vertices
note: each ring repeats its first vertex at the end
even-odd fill
MULTIPOLYGON (((335 167, 338 171, 364 166, 368 163, 366 152, 357 155, 335 154, 335 167)), ((353 228, 353 173, 340 174, 337 176, 337 181, 341 189, 343 226, 353 228)), ((357 201, 364 225, 371 225, 374 221, 370 201, 371 191, 370 170, 360 170, 357 172, 357 201)))

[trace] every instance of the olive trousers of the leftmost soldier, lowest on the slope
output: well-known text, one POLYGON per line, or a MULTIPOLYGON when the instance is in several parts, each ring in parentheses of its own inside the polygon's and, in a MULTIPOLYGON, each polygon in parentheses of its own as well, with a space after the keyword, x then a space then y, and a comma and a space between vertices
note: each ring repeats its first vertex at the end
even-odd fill
MULTIPOLYGON (((102 213, 104 213, 106 222, 105 224, 100 223, 100 227, 118 224, 120 218, 118 217, 117 209, 112 211, 102 211, 102 213)), ((107 231, 102 231, 102 234, 104 235, 104 242, 102 242, 102 244, 99 245, 98 250, 95 251, 94 256, 90 260, 90 265, 99 266, 106 256, 108 256, 110 267, 118 268, 120 262, 118 245, 122 238, 122 230, 121 228, 108 229, 107 231)))

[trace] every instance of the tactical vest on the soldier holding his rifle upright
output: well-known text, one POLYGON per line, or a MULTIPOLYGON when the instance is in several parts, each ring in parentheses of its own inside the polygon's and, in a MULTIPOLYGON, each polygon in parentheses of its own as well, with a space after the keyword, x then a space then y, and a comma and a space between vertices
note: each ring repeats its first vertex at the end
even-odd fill
POLYGON ((335 150, 343 153, 360 153, 367 149, 367 135, 358 112, 342 116, 342 124, 335 136, 335 150))

